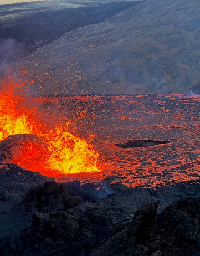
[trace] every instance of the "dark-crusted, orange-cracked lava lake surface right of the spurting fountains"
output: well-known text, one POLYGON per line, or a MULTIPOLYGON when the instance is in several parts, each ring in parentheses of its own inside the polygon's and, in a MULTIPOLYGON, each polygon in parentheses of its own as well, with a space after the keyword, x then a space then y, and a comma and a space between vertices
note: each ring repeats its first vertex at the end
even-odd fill
MULTIPOLYGON (((143 187, 199 179, 199 98, 194 101, 181 94, 96 95, 58 101, 64 117, 71 113, 71 120, 88 110, 76 127, 82 136, 88 137, 88 127, 96 134, 93 144, 100 152, 99 179, 111 177, 114 182, 143 187), (147 140, 170 143, 127 149, 115 146, 121 141, 147 140)), ((55 110, 53 104, 52 108, 55 110)), ((81 181, 96 179, 83 177, 81 181)))

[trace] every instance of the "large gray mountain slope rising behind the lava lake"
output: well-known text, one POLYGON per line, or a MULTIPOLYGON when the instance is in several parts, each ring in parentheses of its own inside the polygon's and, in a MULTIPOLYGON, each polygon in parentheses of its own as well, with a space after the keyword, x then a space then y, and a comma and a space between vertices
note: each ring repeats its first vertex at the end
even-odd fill
POLYGON ((65 33, 22 65, 43 93, 198 93, 199 24, 198 0, 148 0, 65 33))

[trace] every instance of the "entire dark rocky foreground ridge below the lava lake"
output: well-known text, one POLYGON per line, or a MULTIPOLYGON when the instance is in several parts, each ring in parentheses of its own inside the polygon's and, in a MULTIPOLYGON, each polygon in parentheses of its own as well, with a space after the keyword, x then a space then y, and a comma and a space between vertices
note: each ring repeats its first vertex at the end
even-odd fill
POLYGON ((57 183, 0 171, 1 255, 199 255, 200 185, 57 183))

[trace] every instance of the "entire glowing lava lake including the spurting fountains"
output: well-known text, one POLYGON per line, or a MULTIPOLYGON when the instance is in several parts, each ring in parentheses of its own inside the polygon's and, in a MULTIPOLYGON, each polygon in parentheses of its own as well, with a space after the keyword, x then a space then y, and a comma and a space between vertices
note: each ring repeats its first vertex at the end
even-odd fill
MULTIPOLYGON (((10 96, 14 105, 5 106, 6 110, 1 106, 1 111, 13 115, 14 122, 23 120, 23 129, 17 133, 36 134, 45 145, 44 151, 37 147, 37 153, 29 154, 28 160, 22 156, 20 161, 13 161, 28 170, 61 182, 96 182, 110 177, 113 182, 145 187, 199 180, 199 96, 57 96, 32 98, 28 105, 27 98, 13 91, 10 96), (134 149, 115 146, 142 139, 171 143, 134 149)), ((0 132, 2 140, 6 136, 0 132)), ((30 148, 26 150, 32 151, 30 148)))

